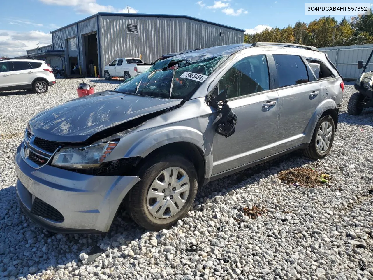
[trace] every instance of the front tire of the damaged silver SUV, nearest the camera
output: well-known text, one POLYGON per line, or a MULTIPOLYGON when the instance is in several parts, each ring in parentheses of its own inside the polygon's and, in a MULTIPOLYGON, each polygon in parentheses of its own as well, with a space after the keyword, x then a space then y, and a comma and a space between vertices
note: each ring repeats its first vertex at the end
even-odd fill
MULTIPOLYGON (((169 174, 172 174, 172 172, 169 172, 169 174)), ((166 153, 158 154, 152 157, 152 159, 145 162, 145 164, 142 165, 142 167, 139 169, 138 177, 140 177, 141 181, 138 182, 126 196, 125 206, 132 219, 141 227, 155 231, 158 231, 162 228, 169 228, 170 226, 175 224, 176 221, 183 218, 194 203, 195 195, 197 193, 197 172, 195 171, 194 165, 188 159, 185 159, 181 155, 166 153), (170 169, 176 170, 175 168, 179 168, 177 176, 181 176, 184 172, 184 175, 187 175, 187 177, 182 175, 182 177, 179 178, 184 178, 184 180, 185 178, 189 179, 189 192, 180 193, 178 197, 177 193, 174 193, 173 191, 177 192, 176 188, 178 188, 179 190, 181 190, 181 188, 185 188, 185 185, 183 184, 177 187, 175 184, 175 187, 173 187, 173 185, 169 186, 171 183, 167 183, 169 180, 164 180, 162 184, 165 184, 164 186, 167 187, 157 189, 154 188, 160 186, 159 184, 155 184, 156 179, 158 181, 162 180, 159 179, 160 177, 162 177, 162 175, 163 178, 166 178, 164 174, 167 173, 162 172, 170 169), (151 188, 152 184, 153 187, 151 188), (156 193, 160 195, 157 199, 148 197, 148 192, 154 190, 156 190, 156 193), (163 192, 163 190, 165 192, 163 192), (163 192, 164 194, 161 192, 163 192), (175 197, 173 197, 173 195, 175 195, 175 197), (182 195, 184 197, 179 200, 182 195), (163 196, 167 196, 166 200, 164 200, 163 196), (154 199, 156 199, 157 201, 153 204, 154 199), (177 202, 182 202, 182 200, 185 200, 184 205, 179 206, 179 208, 176 209, 175 207, 178 206, 177 202), (176 203, 174 203, 175 201, 176 203), (172 215, 171 208, 166 207, 168 205, 173 206, 172 209, 175 210, 175 214, 172 215), (165 208, 162 208, 162 206, 164 206, 165 208), (154 210, 158 209, 159 211, 157 215, 163 217, 155 217, 150 212, 151 207, 156 207, 154 208, 154 210), (168 214, 167 211, 170 211, 170 214, 168 214)), ((172 180, 171 177, 169 178, 172 180)), ((154 210, 153 213, 155 212, 154 210)))

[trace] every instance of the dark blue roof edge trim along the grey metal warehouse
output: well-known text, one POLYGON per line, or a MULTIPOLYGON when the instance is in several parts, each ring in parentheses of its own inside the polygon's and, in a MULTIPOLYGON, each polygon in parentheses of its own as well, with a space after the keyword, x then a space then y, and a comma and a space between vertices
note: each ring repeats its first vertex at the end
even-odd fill
POLYGON ((185 18, 185 19, 190 19, 192 21, 203 22, 203 23, 206 23, 206 24, 216 25, 216 26, 219 26, 219 27, 224 27, 224 28, 228 28, 228 29, 232 29, 232 30, 236 30, 236 31, 245 32, 244 29, 239 29, 239 28, 235 28, 235 27, 231 27, 231 26, 223 25, 223 24, 217 24, 215 22, 205 21, 204 19, 194 18, 192 16, 187 16, 187 15, 158 15, 158 14, 148 14, 148 13, 106 13, 106 12, 98 12, 97 14, 95 14, 93 16, 89 16, 88 18, 81 19, 80 21, 74 22, 72 24, 69 24, 69 25, 61 27, 59 29, 56 29, 54 31, 51 31, 50 33, 54 33, 56 31, 59 31, 59 30, 64 29, 66 27, 70 27, 72 25, 78 24, 79 22, 86 21, 87 19, 91 19, 91 18, 94 18, 94 17, 99 16, 99 15, 100 16, 128 16, 128 17, 137 17, 137 18, 185 18))

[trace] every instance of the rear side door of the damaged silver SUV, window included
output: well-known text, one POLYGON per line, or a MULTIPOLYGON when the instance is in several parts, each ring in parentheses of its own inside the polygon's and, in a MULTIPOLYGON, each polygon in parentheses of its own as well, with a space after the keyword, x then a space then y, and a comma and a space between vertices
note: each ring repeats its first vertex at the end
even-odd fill
POLYGON ((280 98, 277 153, 304 143, 305 128, 320 104, 322 94, 303 57, 274 53, 273 59, 280 98))

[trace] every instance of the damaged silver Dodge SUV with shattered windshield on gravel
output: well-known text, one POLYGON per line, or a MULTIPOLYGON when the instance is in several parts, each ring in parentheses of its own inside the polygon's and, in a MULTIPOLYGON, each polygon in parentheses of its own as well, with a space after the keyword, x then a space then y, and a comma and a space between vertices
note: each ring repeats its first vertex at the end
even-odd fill
POLYGON ((19 203, 54 232, 107 232, 121 203, 142 227, 170 227, 197 186, 295 149, 326 156, 343 87, 309 46, 234 44, 161 60, 30 119, 15 155, 19 203))

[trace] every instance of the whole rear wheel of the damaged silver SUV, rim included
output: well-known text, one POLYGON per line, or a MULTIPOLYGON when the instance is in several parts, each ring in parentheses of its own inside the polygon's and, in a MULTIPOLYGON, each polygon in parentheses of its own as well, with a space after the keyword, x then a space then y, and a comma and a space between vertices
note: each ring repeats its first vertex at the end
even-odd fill
POLYGON ((312 159, 324 158, 332 148, 335 125, 330 115, 323 116, 316 124, 310 144, 304 150, 305 156, 312 159))

